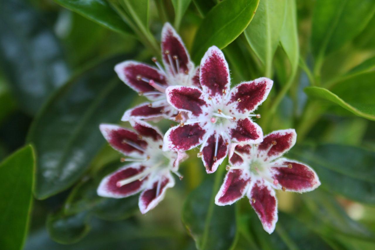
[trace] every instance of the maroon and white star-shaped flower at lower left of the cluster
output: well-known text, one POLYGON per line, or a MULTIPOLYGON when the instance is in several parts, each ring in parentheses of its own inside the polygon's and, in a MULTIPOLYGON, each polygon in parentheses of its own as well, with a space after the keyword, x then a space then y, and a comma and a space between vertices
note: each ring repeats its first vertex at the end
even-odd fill
POLYGON ((139 210, 142 214, 153 209, 165 196, 167 188, 174 186, 171 175, 177 172, 178 164, 187 155, 176 152, 163 152, 163 136, 146 122, 130 120, 136 132, 117 125, 101 124, 100 130, 112 148, 130 158, 124 167, 106 176, 98 187, 98 195, 123 198, 142 191, 139 196, 139 210))

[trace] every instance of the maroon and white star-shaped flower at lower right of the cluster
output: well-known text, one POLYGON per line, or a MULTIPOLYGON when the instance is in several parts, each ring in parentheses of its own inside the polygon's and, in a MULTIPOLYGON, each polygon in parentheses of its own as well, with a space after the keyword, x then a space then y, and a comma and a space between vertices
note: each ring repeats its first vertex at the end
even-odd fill
POLYGON ((320 185, 311 167, 279 158, 296 143, 293 129, 274 131, 259 145, 231 145, 228 173, 215 197, 219 206, 230 205, 248 196, 264 230, 272 233, 278 220, 275 190, 308 192, 320 185))

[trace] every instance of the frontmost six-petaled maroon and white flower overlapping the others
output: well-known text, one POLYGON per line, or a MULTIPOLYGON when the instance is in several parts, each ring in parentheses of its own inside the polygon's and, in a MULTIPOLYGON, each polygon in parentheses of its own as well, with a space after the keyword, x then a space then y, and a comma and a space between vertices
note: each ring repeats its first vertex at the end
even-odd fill
POLYGON ((260 143, 262 129, 249 118, 268 96, 273 81, 258 78, 230 89, 228 63, 222 51, 213 46, 201 60, 201 88, 170 86, 168 102, 188 119, 165 134, 163 150, 186 151, 202 145, 202 157, 207 173, 213 173, 228 154, 231 142, 260 143))

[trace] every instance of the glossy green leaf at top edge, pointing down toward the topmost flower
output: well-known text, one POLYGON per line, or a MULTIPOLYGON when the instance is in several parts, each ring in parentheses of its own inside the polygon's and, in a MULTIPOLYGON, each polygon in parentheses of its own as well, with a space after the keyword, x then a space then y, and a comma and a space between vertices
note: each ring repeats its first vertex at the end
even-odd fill
POLYGON ((63 7, 101 24, 115 32, 132 35, 133 31, 119 15, 103 0, 54 0, 63 7))

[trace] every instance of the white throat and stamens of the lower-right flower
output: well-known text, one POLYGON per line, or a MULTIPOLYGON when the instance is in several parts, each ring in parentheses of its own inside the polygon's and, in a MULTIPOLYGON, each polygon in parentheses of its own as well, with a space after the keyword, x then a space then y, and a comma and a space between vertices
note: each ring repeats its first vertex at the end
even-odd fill
POLYGON ((258 151, 258 144, 251 145, 251 157, 246 157, 245 155, 241 154, 238 151, 234 151, 235 154, 237 154, 239 157, 242 158, 243 163, 240 166, 226 166, 226 170, 232 170, 232 169, 242 169, 242 170, 248 170, 251 175, 257 179, 262 178, 267 182, 272 183, 276 187, 281 187, 283 191, 285 191, 285 187, 282 187, 279 184, 279 181, 277 179, 272 179, 271 177, 271 167, 288 167, 289 169, 293 168, 292 164, 288 165, 273 165, 274 160, 269 160, 268 152, 270 152, 271 148, 277 144, 276 141, 273 141, 269 148, 264 151, 260 152, 258 151))

